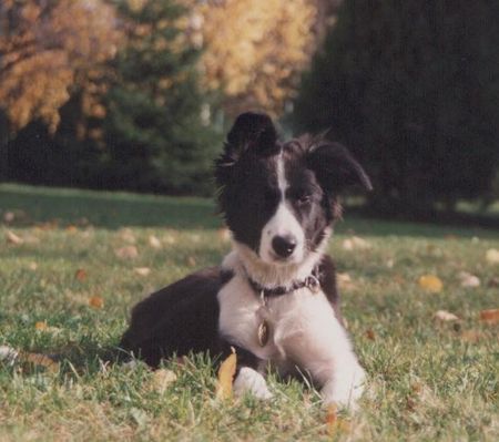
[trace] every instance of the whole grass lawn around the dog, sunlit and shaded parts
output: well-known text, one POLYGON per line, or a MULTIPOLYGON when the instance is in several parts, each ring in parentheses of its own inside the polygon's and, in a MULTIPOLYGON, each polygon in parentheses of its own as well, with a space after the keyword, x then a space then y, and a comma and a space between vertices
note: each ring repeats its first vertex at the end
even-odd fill
MULTIPOLYGON (((177 380, 165 392, 145 367, 104 362, 138 300, 228 250, 210 201, 2 185, 0 210, 0 219, 13 216, 0 222, 0 346, 60 362, 0 362, 1 441, 330 439, 318 395, 301 383, 272 379, 267 403, 220 402, 201 356, 167 363, 177 380), (8 243, 8 232, 22 244, 8 243), (130 245, 135 258, 116 256, 130 245), (90 307, 92 297, 103 307, 90 307)), ((499 232, 345 217, 329 253, 352 279, 343 310, 369 384, 334 438, 498 440, 498 328, 479 311, 499 307, 499 266, 486 260, 499 232), (353 235, 370 247, 344 249, 353 235), (462 287, 460 271, 480 287, 462 287), (418 286, 426 274, 444 281, 441 292, 418 286), (440 309, 461 321, 437 323, 440 309)))

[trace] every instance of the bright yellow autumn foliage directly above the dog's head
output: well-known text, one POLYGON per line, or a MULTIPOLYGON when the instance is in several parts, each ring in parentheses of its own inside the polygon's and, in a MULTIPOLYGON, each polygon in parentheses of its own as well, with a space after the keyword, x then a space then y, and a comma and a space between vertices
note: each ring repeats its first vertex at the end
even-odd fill
POLYGON ((191 41, 204 45, 208 89, 222 89, 232 113, 258 107, 278 114, 308 63, 315 35, 313 0, 193 2, 191 41))

